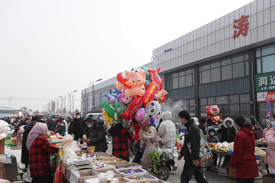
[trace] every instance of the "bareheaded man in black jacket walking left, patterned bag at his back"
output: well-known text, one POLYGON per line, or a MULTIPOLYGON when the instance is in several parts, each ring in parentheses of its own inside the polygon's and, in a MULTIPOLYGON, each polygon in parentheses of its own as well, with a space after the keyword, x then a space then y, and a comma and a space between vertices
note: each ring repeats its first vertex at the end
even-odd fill
POLYGON ((193 119, 190 119, 190 114, 187 110, 183 110, 178 114, 181 124, 186 127, 184 135, 184 144, 178 155, 178 160, 184 156, 184 166, 181 174, 181 183, 187 183, 194 175, 197 182, 208 183, 201 172, 200 166, 200 130, 193 119), (187 144, 190 143, 192 154, 189 151, 187 144))

